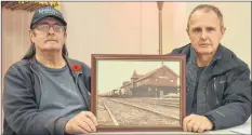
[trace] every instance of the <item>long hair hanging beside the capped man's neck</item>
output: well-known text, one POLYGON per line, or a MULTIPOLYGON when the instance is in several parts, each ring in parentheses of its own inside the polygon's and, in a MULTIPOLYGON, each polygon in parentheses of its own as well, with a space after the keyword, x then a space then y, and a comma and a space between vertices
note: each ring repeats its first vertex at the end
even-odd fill
MULTIPOLYGON (((22 59, 30 59, 31 57, 35 56, 35 54, 36 54, 35 43, 31 43, 29 50, 26 52, 25 56, 22 59)), ((68 51, 66 49, 66 44, 63 44, 62 55, 64 55, 66 57, 68 56, 68 51)))

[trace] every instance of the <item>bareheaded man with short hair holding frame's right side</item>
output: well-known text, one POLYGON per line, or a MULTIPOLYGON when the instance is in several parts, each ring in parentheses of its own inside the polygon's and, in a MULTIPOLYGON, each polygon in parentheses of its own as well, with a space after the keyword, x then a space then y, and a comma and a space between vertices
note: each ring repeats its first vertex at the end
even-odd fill
POLYGON ((221 44, 225 30, 221 11, 200 4, 187 23, 190 43, 171 53, 186 55, 186 132, 228 129, 251 116, 250 69, 221 44))

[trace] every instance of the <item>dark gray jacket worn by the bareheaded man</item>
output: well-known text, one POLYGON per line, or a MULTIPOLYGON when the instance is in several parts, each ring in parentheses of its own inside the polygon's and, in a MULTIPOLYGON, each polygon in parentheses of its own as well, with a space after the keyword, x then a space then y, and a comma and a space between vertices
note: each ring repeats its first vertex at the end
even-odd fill
MULTIPOLYGON (((196 87, 196 53, 190 44, 171 54, 186 55, 186 112, 191 112, 196 87)), ((251 114, 251 80, 246 63, 220 44, 202 72, 197 92, 197 113, 212 119, 215 130, 243 124, 251 114)))

